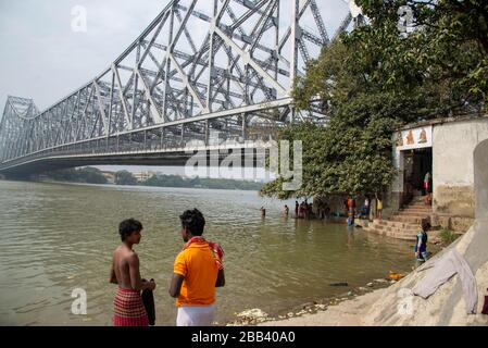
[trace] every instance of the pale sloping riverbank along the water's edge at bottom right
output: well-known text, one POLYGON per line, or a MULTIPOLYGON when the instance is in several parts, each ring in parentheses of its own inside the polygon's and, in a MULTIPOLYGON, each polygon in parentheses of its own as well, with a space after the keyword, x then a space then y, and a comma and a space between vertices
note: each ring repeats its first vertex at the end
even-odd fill
POLYGON ((415 269, 401 281, 386 288, 328 306, 324 311, 302 316, 261 321, 266 326, 396 326, 396 325, 472 325, 488 326, 483 314, 488 284, 487 239, 488 220, 478 220, 460 239, 437 253, 424 266, 415 269), (455 250, 472 268, 477 283, 475 314, 466 313, 463 288, 459 276, 451 277, 427 299, 412 296, 411 289, 423 282, 429 266, 446 252, 455 250))

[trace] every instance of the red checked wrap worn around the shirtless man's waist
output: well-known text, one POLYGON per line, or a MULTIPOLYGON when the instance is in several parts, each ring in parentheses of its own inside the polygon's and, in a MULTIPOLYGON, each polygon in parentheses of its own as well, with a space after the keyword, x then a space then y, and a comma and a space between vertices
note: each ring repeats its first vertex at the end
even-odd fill
POLYGON ((148 326, 149 319, 140 293, 118 288, 113 300, 114 326, 148 326))

